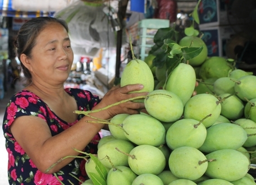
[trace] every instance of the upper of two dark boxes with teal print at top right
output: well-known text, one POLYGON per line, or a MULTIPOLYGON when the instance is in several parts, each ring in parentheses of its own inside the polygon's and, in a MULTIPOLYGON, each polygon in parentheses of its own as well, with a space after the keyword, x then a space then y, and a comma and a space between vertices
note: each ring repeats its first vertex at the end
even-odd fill
POLYGON ((201 0, 198 7, 198 16, 200 20, 199 27, 208 28, 219 25, 229 25, 228 2, 229 1, 226 0, 201 0))

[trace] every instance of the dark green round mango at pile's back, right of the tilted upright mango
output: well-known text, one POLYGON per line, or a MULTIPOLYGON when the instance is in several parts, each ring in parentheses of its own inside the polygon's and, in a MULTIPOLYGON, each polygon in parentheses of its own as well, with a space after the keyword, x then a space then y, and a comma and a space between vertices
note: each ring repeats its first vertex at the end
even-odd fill
POLYGON ((201 65, 199 75, 201 79, 227 77, 233 67, 221 56, 211 56, 201 65))

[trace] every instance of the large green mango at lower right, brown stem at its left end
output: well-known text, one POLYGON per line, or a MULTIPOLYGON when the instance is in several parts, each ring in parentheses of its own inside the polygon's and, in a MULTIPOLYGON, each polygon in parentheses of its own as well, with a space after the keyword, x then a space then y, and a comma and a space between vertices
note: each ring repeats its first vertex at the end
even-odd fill
POLYGON ((208 153, 206 158, 208 160, 215 160, 208 162, 208 168, 205 172, 206 176, 229 182, 237 181, 244 177, 250 165, 248 158, 243 153, 232 149, 222 149, 208 153))

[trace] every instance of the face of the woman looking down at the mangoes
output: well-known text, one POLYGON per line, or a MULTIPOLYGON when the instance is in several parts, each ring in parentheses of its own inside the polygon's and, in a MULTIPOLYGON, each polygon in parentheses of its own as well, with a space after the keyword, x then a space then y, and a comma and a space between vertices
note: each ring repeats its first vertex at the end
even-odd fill
POLYGON ((66 81, 73 63, 73 51, 66 29, 50 23, 36 38, 29 61, 32 81, 59 85, 66 81))

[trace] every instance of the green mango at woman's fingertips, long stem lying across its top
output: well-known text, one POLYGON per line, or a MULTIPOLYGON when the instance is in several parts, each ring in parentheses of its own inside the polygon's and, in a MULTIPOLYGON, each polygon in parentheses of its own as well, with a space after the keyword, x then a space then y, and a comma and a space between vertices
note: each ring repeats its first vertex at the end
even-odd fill
POLYGON ((163 122, 179 120, 183 115, 183 102, 179 96, 168 90, 159 89, 149 93, 144 101, 146 111, 163 122))

